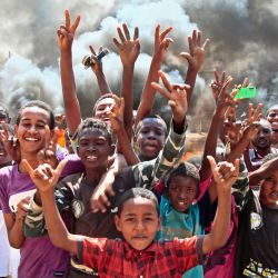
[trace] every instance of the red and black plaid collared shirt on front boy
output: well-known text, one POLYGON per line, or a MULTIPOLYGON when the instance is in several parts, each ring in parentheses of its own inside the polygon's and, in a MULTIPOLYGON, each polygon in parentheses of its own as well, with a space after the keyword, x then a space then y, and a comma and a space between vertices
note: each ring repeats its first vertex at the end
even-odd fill
POLYGON ((99 277, 181 277, 202 264, 202 237, 153 241, 142 251, 135 250, 125 240, 80 238, 77 260, 99 277))

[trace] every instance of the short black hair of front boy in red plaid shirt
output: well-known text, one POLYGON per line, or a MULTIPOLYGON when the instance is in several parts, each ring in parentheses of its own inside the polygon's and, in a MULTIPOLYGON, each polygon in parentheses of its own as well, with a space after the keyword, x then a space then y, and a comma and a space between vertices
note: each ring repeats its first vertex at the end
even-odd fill
POLYGON ((156 205, 157 214, 158 214, 158 216, 160 216, 158 199, 157 199, 156 195, 152 191, 150 191, 150 190, 148 190, 146 188, 141 188, 141 187, 131 188, 131 189, 127 190, 119 198, 119 200, 117 202, 117 207, 118 207, 117 215, 120 216, 125 202, 127 202, 130 199, 138 198, 138 197, 141 197, 141 198, 149 199, 149 200, 153 201, 153 203, 156 205))

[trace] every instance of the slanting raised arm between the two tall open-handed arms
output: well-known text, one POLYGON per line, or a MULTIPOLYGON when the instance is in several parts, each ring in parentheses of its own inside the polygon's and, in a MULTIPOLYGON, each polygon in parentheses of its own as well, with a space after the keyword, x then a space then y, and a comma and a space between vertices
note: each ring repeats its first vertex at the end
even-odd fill
POLYGON ((157 26, 155 32, 155 52, 152 56, 152 60, 150 63, 150 69, 148 73, 148 78, 146 80, 140 103, 137 110, 135 126, 138 125, 140 120, 142 120, 146 116, 151 112, 156 89, 151 86, 151 82, 158 82, 159 76, 158 71, 163 61, 163 57, 169 48, 170 42, 172 39, 166 38, 166 36, 172 30, 171 27, 168 27, 165 31, 160 33, 160 24, 157 26))

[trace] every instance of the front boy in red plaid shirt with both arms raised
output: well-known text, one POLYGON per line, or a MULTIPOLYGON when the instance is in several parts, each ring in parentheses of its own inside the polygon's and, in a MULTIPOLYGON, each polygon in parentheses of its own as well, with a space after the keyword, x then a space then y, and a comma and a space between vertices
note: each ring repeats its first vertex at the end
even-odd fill
POLYGON ((53 187, 67 163, 56 170, 43 165, 33 170, 24 160, 24 168, 40 190, 49 236, 53 245, 68 250, 77 260, 97 269, 100 277, 181 277, 201 264, 202 254, 221 247, 227 239, 230 217, 231 185, 236 181, 239 161, 235 167, 217 166, 209 157, 218 191, 218 211, 209 235, 172 241, 153 241, 160 228, 156 197, 146 189, 127 191, 118 205, 116 226, 121 240, 86 238, 68 232, 56 207, 53 187))

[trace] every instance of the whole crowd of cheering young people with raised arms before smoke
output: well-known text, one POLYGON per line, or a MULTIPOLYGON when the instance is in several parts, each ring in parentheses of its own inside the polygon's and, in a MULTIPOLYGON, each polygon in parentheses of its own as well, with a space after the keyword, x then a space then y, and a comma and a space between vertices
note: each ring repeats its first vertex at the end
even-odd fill
POLYGON ((183 161, 187 112, 208 40, 201 43, 193 30, 189 52, 181 53, 185 83, 170 83, 160 68, 172 28, 156 27, 135 116, 139 29, 130 36, 123 23, 113 38, 121 91, 112 93, 90 47, 100 98, 82 120, 72 69, 80 17, 73 23, 69 11, 64 17, 58 46, 70 148, 58 147, 47 103, 26 103, 12 129, 0 111, 0 209, 8 231, 0 247, 9 240, 20 249, 18 277, 278 277, 278 106, 262 115, 261 103, 249 105, 247 118, 237 120, 235 96, 248 83, 231 91, 232 78, 215 71, 203 156, 200 163, 183 161), (169 129, 151 113, 157 92, 170 107, 169 129))

